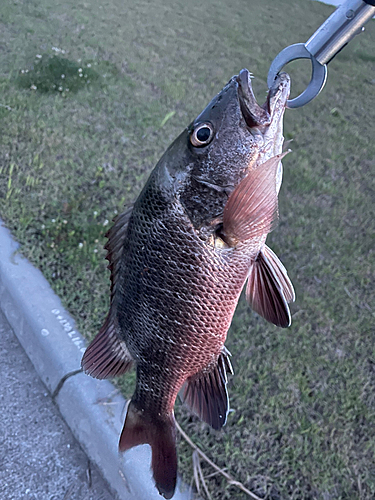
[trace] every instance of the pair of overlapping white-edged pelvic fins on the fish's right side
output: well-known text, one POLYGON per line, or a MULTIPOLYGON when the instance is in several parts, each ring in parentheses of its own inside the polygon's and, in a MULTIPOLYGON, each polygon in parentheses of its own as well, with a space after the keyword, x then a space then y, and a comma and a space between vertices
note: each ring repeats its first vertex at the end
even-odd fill
POLYGON ((294 300, 294 289, 284 266, 265 247, 250 268, 246 299, 251 308, 267 321, 283 328, 290 326, 288 302, 294 300))

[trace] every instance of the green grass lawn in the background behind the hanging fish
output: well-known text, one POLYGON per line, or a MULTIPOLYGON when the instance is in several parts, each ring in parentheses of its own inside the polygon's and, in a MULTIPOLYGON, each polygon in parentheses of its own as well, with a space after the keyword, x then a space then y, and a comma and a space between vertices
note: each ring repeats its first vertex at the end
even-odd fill
MULTIPOLYGON (((0 214, 88 338, 108 306, 111 219, 233 74, 248 67, 261 101, 273 57, 331 11, 308 0, 3 0, 0 214), (73 80, 79 68, 98 76, 59 91, 59 64, 73 80), (40 83, 22 88, 26 69, 40 83)), ((374 47, 371 22, 330 64, 322 94, 286 113, 294 152, 269 243, 296 287, 292 327, 241 299, 227 426, 216 433, 176 409, 209 457, 268 500, 375 497, 374 47)), ((296 92, 309 77, 291 66, 296 92)), ((121 381, 126 394, 133 383, 121 381)), ((183 441, 179 456, 190 482, 183 441)), ((245 498, 220 476, 207 484, 213 499, 245 498)))

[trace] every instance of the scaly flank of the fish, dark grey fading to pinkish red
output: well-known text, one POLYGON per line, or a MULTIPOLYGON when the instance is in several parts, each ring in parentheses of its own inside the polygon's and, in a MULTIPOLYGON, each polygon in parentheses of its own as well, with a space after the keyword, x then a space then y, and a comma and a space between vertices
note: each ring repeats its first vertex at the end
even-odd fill
MULTIPOLYGON (((139 202, 155 210, 153 190, 150 186, 139 202)), ((149 363, 157 355, 156 345, 157 352, 162 353, 157 363, 164 371, 173 367, 176 390, 172 397, 168 395, 165 405, 171 411, 185 379, 216 361, 220 354, 251 255, 231 252, 229 256, 226 250, 221 255, 205 245, 176 201, 151 217, 158 222, 150 241, 145 218, 138 217, 134 207, 129 241, 135 248, 147 245, 147 254, 124 247, 122 266, 131 273, 124 272, 120 284, 118 321, 132 357, 147 360, 142 380, 147 379, 147 371, 149 376, 154 373, 149 363), (177 361, 176 356, 180 356, 177 361)), ((168 375, 161 373, 160 377, 159 383, 165 385, 168 375)), ((154 385, 157 383, 154 381, 154 385)), ((145 408, 153 404, 148 401, 150 397, 148 393, 142 399, 145 408)))

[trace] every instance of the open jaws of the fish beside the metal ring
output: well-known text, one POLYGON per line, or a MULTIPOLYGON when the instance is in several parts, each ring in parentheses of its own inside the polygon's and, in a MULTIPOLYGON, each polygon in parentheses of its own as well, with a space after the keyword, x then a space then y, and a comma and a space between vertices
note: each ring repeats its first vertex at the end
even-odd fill
POLYGON ((237 83, 241 112, 248 127, 265 132, 274 121, 282 118, 290 93, 290 78, 286 73, 277 75, 262 106, 256 101, 247 69, 241 70, 237 83))

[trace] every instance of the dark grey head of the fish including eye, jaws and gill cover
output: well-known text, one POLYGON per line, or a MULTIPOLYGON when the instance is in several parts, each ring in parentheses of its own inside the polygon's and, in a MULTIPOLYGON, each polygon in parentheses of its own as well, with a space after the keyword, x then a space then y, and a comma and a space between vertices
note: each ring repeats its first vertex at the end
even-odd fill
MULTIPOLYGON (((188 182, 180 199, 196 229, 204 231, 220 222, 228 196, 239 182, 282 151, 290 78, 278 75, 262 106, 251 78, 247 69, 232 77, 187 129, 188 182)), ((281 178, 277 183, 279 188, 281 178)))

